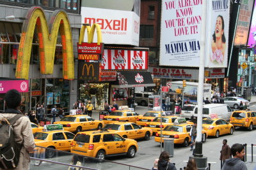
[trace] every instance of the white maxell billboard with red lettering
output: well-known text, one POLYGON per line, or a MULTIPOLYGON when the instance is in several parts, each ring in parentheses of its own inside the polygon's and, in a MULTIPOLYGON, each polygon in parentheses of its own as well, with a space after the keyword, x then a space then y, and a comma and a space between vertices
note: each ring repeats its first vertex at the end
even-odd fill
POLYGON ((100 25, 105 44, 139 45, 140 17, 133 11, 81 7, 81 16, 82 24, 100 25))

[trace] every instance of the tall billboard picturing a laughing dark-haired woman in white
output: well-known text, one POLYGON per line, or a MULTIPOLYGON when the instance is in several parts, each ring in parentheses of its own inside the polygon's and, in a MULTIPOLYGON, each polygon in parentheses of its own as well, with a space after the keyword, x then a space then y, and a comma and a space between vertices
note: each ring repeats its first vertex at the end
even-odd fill
POLYGON ((209 7, 205 67, 227 67, 230 1, 212 0, 209 7))

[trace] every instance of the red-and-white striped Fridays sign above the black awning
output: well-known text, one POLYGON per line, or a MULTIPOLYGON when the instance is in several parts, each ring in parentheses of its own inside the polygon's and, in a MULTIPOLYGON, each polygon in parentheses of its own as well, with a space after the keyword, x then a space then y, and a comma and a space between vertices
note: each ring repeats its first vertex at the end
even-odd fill
POLYGON ((148 50, 105 49, 101 66, 102 70, 148 69, 148 50))

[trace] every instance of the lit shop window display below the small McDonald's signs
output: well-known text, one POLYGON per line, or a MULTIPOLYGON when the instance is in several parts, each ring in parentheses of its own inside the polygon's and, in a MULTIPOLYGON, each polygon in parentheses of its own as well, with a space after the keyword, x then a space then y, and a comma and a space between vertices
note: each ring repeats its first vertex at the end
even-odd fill
POLYGON ((95 109, 104 109, 104 102, 108 101, 109 83, 80 83, 79 100, 84 104, 92 101, 95 109))

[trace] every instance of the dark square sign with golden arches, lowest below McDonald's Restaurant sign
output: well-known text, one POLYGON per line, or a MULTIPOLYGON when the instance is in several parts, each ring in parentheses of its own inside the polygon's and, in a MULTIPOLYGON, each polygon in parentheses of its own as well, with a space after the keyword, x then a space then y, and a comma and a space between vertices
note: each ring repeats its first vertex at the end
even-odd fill
POLYGON ((85 81, 99 81, 100 62, 78 61, 78 79, 85 81))

